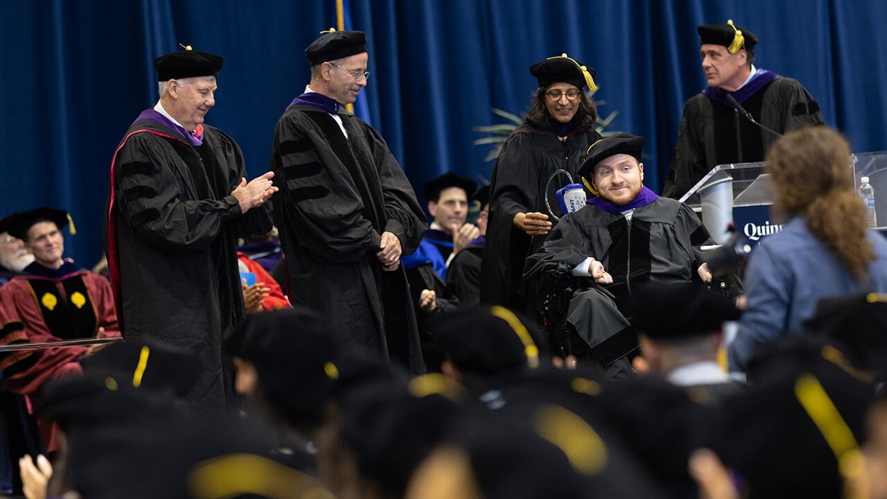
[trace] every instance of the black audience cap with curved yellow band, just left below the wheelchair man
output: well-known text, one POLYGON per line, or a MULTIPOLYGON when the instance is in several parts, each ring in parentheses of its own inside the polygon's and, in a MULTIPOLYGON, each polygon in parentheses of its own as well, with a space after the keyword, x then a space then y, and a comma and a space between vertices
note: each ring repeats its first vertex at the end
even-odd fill
POLYGON ((504 307, 441 313, 429 329, 435 344, 459 370, 496 376, 538 367, 536 326, 504 307))

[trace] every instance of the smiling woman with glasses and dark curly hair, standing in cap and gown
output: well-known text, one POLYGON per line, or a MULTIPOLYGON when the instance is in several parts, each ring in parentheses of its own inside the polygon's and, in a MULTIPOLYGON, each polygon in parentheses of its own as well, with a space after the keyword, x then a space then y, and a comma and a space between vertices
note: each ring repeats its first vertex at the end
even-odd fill
POLYGON ((502 146, 493 170, 490 223, 483 252, 481 301, 535 313, 535 281, 522 279, 523 263, 542 246, 562 215, 555 191, 576 180, 585 150, 600 139, 595 71, 567 54, 530 67, 538 90, 526 120, 502 146))

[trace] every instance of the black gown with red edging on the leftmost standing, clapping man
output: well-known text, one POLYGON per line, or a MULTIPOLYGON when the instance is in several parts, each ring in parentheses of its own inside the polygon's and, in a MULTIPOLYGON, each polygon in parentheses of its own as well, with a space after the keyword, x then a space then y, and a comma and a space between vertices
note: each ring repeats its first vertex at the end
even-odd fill
POLYGON ((237 240, 271 230, 266 207, 243 214, 231 192, 247 177, 243 154, 204 125, 192 147, 151 120, 133 123, 114 155, 107 249, 126 338, 150 337, 200 357, 189 400, 233 408, 233 365, 224 331, 245 314, 237 240))

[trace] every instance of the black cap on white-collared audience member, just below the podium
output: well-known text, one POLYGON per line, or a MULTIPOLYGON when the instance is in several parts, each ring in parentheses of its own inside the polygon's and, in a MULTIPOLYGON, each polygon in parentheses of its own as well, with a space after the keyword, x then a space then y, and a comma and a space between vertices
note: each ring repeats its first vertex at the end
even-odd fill
POLYGON ((733 302, 695 282, 648 282, 632 293, 636 325, 655 339, 698 337, 739 319, 733 302))

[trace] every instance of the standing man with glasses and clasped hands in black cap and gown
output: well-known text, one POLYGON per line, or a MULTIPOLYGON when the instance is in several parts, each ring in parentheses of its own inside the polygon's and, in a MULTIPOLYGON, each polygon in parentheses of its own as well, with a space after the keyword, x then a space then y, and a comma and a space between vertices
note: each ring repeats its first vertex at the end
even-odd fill
POLYGON ((310 83, 271 149, 288 295, 322 313, 331 334, 422 373, 400 257, 419 246, 425 212, 379 132, 343 109, 367 83, 366 36, 331 30, 305 55, 310 83))

